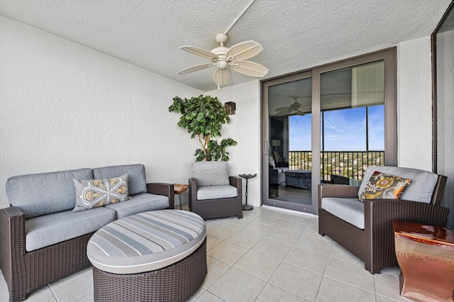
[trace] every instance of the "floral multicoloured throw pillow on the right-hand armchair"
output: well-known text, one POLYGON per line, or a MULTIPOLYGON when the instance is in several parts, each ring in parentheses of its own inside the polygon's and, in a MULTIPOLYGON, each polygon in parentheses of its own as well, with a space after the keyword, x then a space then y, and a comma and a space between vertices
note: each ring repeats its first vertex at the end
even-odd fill
POLYGON ((365 199, 399 199, 410 183, 411 179, 403 179, 375 171, 358 199, 362 202, 365 199))

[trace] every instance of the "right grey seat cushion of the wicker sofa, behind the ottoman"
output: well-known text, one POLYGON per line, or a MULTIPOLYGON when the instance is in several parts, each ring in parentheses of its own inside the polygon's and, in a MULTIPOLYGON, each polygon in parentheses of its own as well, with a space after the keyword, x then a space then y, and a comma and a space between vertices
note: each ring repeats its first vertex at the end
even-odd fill
POLYGON ((105 208, 116 211, 116 218, 121 219, 137 213, 162 210, 170 206, 169 198, 150 193, 136 194, 131 199, 120 203, 111 203, 105 208))

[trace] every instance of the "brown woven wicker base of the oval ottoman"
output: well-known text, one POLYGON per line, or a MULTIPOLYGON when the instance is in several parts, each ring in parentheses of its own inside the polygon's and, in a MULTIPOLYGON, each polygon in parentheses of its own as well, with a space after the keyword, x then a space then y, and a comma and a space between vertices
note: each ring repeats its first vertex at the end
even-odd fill
POLYGON ((191 255, 140 274, 112 274, 93 267, 94 301, 187 301, 207 273, 206 239, 191 255))

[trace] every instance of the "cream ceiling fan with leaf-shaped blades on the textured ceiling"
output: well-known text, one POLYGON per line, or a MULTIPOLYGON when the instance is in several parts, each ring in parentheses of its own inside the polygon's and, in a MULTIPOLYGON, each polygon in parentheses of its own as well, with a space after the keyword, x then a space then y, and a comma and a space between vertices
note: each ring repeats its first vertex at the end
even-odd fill
POLYGON ((250 57, 258 55, 263 50, 260 43, 250 40, 228 48, 225 46, 227 40, 228 36, 226 33, 218 33, 216 35, 216 42, 219 43, 219 47, 216 47, 211 51, 194 46, 179 47, 193 55, 206 57, 211 60, 212 63, 189 67, 180 70, 177 74, 187 74, 189 72, 196 72, 197 70, 216 66, 214 82, 218 86, 221 86, 228 83, 228 80, 231 77, 231 69, 251 77, 264 77, 268 73, 266 67, 255 62, 246 61, 250 57))

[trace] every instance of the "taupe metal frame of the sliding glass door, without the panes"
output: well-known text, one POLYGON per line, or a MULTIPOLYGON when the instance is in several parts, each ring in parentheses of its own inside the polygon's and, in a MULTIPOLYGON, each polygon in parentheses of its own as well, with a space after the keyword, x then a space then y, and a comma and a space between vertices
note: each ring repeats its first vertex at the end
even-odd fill
MULTIPOLYGON (((283 75, 275 79, 268 79, 262 84, 262 203, 270 206, 278 206, 291 210, 301 211, 301 205, 289 204, 287 201, 277 201, 269 198, 269 175, 268 150, 269 150, 269 113, 268 113, 268 88, 278 84, 297 81, 299 79, 312 78, 312 205, 306 206, 304 212, 319 214, 320 183, 320 157, 314 156, 321 152, 321 130, 320 130, 320 102, 321 102, 321 74, 346 67, 354 67, 369 62, 384 60, 384 164, 397 166, 397 47, 390 47, 366 55, 353 57, 338 62, 321 65, 312 69, 306 69, 295 74, 283 75)), ((303 205, 304 206, 304 205, 303 205)))

